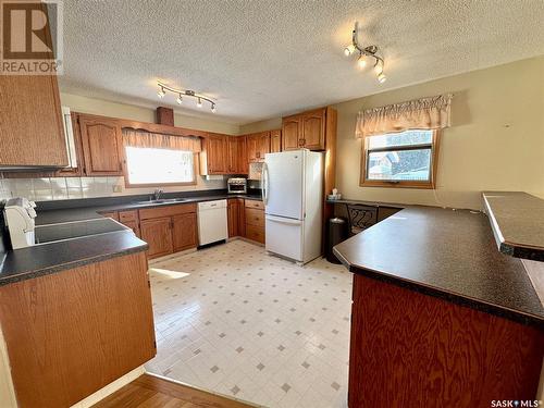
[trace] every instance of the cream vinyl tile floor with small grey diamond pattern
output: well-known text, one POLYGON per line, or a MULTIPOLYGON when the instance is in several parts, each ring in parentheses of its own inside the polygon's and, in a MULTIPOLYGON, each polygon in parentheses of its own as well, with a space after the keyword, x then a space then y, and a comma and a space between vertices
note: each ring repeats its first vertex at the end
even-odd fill
POLYGON ((150 263, 152 373, 265 407, 347 407, 351 274, 237 239, 150 263))

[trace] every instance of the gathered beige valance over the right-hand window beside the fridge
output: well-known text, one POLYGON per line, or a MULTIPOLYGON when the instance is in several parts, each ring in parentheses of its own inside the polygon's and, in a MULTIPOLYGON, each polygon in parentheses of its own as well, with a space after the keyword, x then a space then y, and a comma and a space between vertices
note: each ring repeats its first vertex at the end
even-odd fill
POLYGON ((446 94, 367 109, 357 115, 355 136, 449 127, 453 97, 453 94, 446 94))

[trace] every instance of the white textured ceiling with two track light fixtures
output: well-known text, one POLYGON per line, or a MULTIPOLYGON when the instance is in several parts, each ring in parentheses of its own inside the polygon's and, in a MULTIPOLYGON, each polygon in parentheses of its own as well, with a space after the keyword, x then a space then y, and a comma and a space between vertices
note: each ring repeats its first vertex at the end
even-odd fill
POLYGON ((544 54, 543 0, 64 0, 61 89, 245 124, 544 54), (343 54, 354 22, 387 82, 343 54), (185 108, 186 106, 186 108, 185 108))

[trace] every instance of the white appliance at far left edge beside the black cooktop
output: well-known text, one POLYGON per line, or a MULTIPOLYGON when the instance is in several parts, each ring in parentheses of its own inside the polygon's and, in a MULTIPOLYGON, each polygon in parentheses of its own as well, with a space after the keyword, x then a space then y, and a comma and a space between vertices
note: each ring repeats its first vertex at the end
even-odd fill
POLYGON ((3 208, 4 220, 10 233, 13 249, 25 248, 34 245, 36 203, 26 198, 17 197, 9 199, 3 208))

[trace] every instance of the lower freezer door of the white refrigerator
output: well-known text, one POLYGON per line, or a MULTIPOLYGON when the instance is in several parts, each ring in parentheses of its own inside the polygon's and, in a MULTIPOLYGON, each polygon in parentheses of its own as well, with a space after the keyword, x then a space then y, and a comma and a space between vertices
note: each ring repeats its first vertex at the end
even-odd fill
POLYGON ((264 223, 267 250, 301 262, 304 256, 304 222, 265 215, 264 223))

